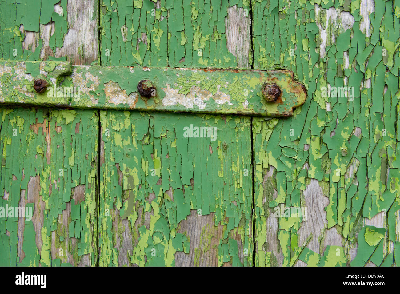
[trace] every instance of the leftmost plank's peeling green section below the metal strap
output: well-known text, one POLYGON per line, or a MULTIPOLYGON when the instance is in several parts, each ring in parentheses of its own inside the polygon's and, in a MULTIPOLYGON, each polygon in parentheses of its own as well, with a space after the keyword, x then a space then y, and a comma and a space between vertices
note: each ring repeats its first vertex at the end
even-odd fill
POLYGON ((97 112, 0 113, 0 264, 96 265, 97 112))

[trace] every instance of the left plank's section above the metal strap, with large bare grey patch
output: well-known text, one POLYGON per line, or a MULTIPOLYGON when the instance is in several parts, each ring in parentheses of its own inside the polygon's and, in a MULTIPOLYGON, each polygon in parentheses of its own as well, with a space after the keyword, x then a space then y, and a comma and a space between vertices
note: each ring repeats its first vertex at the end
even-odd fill
POLYGON ((2 0, 0 58, 96 63, 98 11, 97 0, 2 0))

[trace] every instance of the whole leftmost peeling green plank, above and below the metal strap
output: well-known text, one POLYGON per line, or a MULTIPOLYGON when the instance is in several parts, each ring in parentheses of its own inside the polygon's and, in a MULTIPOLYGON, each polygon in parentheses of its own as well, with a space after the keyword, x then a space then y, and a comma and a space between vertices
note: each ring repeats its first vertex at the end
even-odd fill
MULTIPOLYGON (((0 58, 96 63, 98 15, 96 0, 1 1, 0 58)), ((97 112, 1 112, 1 206, 33 215, 0 216, 0 264, 96 265, 97 112)))

